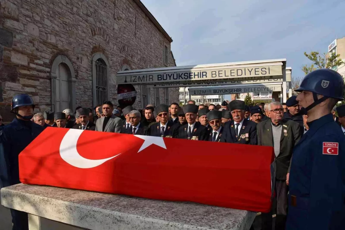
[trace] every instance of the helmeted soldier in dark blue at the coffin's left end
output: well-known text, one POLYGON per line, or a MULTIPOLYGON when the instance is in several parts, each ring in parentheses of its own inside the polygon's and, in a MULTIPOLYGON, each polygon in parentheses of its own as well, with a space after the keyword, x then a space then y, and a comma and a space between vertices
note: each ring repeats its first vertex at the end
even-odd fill
MULTIPOLYGON (((42 131, 43 127, 31 121, 35 104, 27 94, 18 94, 11 102, 11 112, 16 118, 0 131, 1 187, 20 183, 18 155, 42 131)), ((13 230, 27 230, 28 214, 11 209, 13 230)))

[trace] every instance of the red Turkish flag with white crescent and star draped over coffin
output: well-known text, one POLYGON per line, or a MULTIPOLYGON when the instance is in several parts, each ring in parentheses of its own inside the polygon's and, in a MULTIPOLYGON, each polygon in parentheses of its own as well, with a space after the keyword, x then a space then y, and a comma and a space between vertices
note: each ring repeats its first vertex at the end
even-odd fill
POLYGON ((272 147, 46 128, 19 154, 20 181, 268 212, 272 147))

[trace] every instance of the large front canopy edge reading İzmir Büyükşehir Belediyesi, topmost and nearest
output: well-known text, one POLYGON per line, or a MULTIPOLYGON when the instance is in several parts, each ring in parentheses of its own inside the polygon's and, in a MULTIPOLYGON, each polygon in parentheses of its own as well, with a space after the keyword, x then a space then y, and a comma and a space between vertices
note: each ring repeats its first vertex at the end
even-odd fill
POLYGON ((224 79, 260 77, 282 78, 286 59, 230 62, 184 67, 126 70, 117 73, 118 84, 164 84, 166 82, 192 82, 199 80, 224 81, 224 79))

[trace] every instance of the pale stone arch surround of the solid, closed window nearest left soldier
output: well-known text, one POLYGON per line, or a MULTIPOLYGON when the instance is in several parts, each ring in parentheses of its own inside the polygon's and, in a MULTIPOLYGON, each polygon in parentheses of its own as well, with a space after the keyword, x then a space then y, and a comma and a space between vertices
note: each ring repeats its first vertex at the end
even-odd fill
MULTIPOLYGON (((57 86, 57 84, 60 84, 60 81, 58 80, 59 77, 59 68, 65 68, 67 71, 67 76, 68 76, 68 95, 69 95, 69 109, 74 111, 76 109, 76 74, 72 65, 72 62, 63 55, 58 55, 52 65, 51 65, 51 70, 50 70, 50 77, 51 77, 51 110, 54 112, 62 112, 62 110, 67 109, 61 108, 59 110, 61 111, 55 111, 57 109, 57 103, 58 103, 58 98, 57 95, 57 89, 60 89, 60 87, 57 86), (61 66, 60 66, 61 65, 61 66)), ((59 98, 59 101, 61 102, 61 95, 59 98)))

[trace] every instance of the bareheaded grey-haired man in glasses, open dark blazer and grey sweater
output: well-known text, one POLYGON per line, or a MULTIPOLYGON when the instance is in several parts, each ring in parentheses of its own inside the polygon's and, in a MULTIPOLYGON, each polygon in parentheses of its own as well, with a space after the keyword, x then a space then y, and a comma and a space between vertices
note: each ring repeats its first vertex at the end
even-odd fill
MULTIPOLYGON (((275 160, 275 192, 277 200, 275 229, 285 229, 287 215, 288 168, 292 151, 299 139, 302 130, 297 122, 284 119, 284 109, 280 102, 268 104, 270 119, 257 125, 258 145, 272 146, 275 160)), ((262 213, 262 230, 272 230, 272 210, 262 213)))

